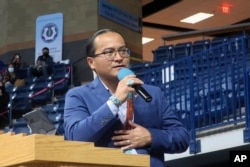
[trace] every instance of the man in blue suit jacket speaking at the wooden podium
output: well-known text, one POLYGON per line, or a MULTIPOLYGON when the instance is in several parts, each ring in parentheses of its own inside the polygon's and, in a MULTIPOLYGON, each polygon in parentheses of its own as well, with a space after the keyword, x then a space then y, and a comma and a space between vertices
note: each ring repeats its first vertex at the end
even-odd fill
POLYGON ((130 62, 130 49, 118 32, 97 31, 87 41, 86 52, 87 62, 97 76, 90 83, 70 89, 65 96, 66 140, 148 154, 151 167, 165 167, 164 153, 187 150, 189 133, 161 89, 143 84, 135 75, 118 80, 119 70, 129 67, 130 62), (151 94, 151 102, 135 93, 132 86, 136 84, 151 94), (128 98, 134 103, 132 115, 127 111, 128 98), (123 128, 125 124, 129 128, 123 128))

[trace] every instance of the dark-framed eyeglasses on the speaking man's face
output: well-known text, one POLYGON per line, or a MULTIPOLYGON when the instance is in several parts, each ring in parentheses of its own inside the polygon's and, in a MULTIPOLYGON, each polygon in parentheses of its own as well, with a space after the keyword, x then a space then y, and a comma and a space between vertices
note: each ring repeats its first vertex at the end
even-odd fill
POLYGON ((119 48, 117 50, 116 49, 107 49, 107 50, 103 51, 102 53, 98 53, 98 54, 93 55, 93 57, 97 57, 97 56, 103 54, 105 56, 106 60, 111 61, 111 60, 115 59, 116 52, 118 52, 119 55, 123 58, 128 58, 130 55, 130 49, 123 47, 123 48, 119 48))

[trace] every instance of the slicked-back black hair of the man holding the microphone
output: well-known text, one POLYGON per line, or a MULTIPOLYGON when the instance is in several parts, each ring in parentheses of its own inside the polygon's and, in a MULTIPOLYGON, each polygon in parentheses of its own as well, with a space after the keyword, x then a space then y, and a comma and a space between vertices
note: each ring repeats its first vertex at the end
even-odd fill
MULTIPOLYGON (((86 47, 86 54, 89 57, 94 56, 95 54, 95 44, 94 44, 94 40, 97 36, 101 35, 101 34, 105 34, 107 32, 115 32, 118 33, 117 31, 114 31, 112 29, 101 29, 96 31, 87 41, 85 47, 86 47)), ((118 33, 120 34, 120 33, 118 33)))

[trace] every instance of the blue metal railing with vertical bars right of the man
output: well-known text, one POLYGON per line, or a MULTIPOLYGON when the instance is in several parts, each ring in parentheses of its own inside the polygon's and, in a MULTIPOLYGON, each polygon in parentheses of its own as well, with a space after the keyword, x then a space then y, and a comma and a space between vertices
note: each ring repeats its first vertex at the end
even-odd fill
POLYGON ((249 81, 244 37, 140 73, 144 83, 161 87, 171 108, 190 131, 190 152, 200 151, 197 132, 245 123, 250 142, 249 81))

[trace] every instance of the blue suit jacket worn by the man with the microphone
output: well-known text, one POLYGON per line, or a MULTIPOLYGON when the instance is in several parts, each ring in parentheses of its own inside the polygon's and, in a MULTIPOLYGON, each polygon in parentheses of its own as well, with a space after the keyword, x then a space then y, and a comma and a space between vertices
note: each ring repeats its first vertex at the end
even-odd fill
MULTIPOLYGON (((153 99, 146 103, 140 96, 134 98, 134 122, 150 131, 152 144, 137 148, 137 152, 150 155, 151 167, 164 167, 164 153, 184 152, 189 146, 189 135, 171 111, 162 91, 155 86, 143 87, 153 99)), ((106 103, 110 96, 98 77, 86 85, 70 89, 65 98, 65 139, 115 147, 111 137, 121 125, 106 103)))

